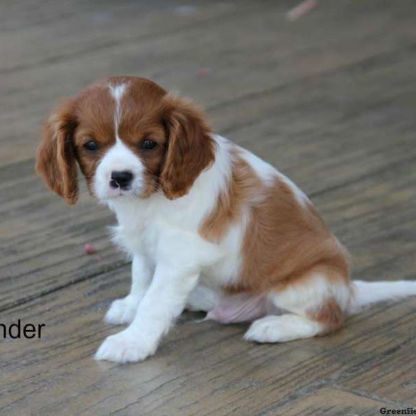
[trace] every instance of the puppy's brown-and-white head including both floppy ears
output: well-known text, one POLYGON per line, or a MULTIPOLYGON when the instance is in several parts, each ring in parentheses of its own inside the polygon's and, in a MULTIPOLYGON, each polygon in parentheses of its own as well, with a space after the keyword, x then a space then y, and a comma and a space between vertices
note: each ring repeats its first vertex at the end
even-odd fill
POLYGON ((150 80, 99 80, 60 107, 44 126, 36 169, 73 204, 77 165, 100 200, 184 196, 214 162, 214 141, 198 108, 150 80))

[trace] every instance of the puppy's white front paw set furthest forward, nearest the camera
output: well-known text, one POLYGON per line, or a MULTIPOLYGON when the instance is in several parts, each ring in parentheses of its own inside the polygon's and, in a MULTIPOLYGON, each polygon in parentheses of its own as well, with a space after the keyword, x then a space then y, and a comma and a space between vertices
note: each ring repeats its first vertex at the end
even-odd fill
POLYGON ((125 329, 107 337, 94 358, 116 363, 135 363, 155 354, 155 350, 156 345, 144 342, 137 333, 125 329))

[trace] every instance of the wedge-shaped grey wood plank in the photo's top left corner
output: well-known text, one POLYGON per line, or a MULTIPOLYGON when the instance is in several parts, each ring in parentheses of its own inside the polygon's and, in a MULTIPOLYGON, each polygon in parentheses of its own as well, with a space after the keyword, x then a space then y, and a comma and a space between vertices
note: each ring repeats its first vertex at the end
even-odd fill
MULTIPOLYGON (((25 2, 23 2, 25 3, 25 2)), ((241 15, 255 10, 250 2, 212 5, 193 1, 189 12, 180 12, 180 1, 157 0, 152 3, 124 1, 118 7, 101 3, 99 7, 83 1, 68 1, 64 5, 48 5, 34 9, 30 2, 15 8, 12 3, 0 6, 2 42, 0 53, 7 60, 0 63, 0 73, 30 71, 61 61, 79 60, 91 52, 114 50, 125 43, 139 43, 207 26, 229 15, 241 15), (7 26, 7 27, 5 27, 7 26), (25 31, 21 31, 21 26, 25 31), (55 36, 51 37, 51 32, 55 36)), ((258 7, 257 7, 258 8, 258 7)))

